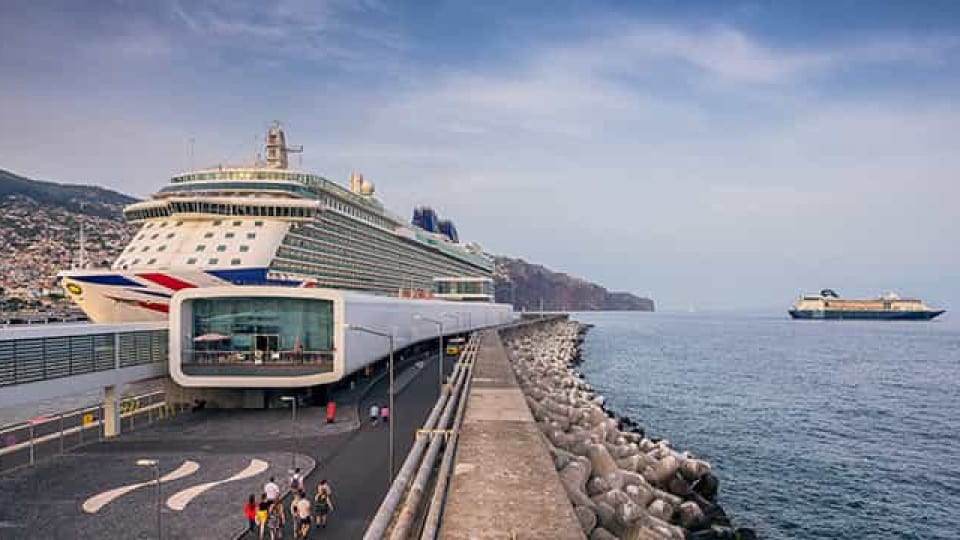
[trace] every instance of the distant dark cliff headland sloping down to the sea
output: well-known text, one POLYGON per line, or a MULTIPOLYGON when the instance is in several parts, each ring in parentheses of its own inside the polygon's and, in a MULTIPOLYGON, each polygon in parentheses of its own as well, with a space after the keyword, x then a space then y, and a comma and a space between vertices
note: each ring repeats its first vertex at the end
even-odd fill
POLYGON ((497 302, 517 310, 653 311, 653 300, 607 289, 523 259, 496 257, 497 302))

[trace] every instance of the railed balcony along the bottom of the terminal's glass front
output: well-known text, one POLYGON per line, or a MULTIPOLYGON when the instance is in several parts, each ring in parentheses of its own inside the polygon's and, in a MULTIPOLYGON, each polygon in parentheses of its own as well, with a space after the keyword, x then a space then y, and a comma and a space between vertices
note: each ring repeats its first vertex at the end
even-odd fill
POLYGON ((195 376, 298 377, 332 373, 334 351, 182 351, 183 373, 195 376))

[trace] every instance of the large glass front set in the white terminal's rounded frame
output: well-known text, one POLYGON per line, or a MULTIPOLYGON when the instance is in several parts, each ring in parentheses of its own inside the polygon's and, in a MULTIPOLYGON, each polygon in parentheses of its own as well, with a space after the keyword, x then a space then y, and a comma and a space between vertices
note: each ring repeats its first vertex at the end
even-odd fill
MULTIPOLYGON (((190 301, 185 363, 317 364, 332 361, 333 302, 245 297, 190 301)), ((331 365, 332 367, 332 365, 331 365)))

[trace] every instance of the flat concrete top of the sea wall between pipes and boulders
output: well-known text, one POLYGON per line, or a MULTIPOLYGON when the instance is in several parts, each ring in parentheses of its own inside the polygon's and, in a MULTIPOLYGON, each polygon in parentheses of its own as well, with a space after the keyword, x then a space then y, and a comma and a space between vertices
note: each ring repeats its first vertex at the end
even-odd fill
POLYGON ((477 355, 440 537, 584 538, 496 331, 477 355))

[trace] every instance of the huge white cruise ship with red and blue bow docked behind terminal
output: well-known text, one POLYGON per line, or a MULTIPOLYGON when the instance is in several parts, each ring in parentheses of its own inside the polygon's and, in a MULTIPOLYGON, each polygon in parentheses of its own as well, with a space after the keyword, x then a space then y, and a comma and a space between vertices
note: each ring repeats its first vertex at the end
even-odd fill
POLYGON ((493 263, 448 221, 388 212, 361 175, 349 188, 289 169, 279 124, 266 159, 171 178, 124 209, 142 227, 111 268, 59 275, 94 322, 165 320, 182 289, 277 285, 392 296, 492 300, 493 263))

